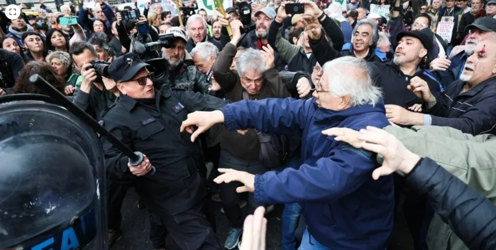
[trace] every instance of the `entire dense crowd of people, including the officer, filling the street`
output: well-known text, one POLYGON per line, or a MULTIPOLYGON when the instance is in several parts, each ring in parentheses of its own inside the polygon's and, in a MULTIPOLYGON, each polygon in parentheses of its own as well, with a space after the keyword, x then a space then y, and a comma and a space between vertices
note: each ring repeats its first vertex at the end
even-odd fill
POLYGON ((495 249, 496 0, 300 0, 287 14, 294 2, 181 19, 151 2, 136 19, 104 0, 0 11, 0 96, 44 94, 39 74, 144 154, 133 166, 101 138, 111 247, 134 187, 155 250, 168 235, 182 250, 264 249, 247 225, 276 204, 283 250, 383 250, 397 216, 416 250, 495 249), (448 20, 451 37, 436 34, 448 20), (244 227, 247 206, 264 209, 244 227))

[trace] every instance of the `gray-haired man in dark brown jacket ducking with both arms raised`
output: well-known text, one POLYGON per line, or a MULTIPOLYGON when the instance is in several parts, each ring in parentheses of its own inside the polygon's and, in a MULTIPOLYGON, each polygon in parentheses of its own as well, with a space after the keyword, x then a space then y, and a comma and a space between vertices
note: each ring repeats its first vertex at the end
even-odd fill
MULTIPOLYGON (((219 53, 213 65, 214 78, 224 91, 226 99, 231 101, 261 100, 266 98, 286 98, 290 94, 282 83, 274 66, 274 51, 268 47, 262 50, 252 48, 246 50, 237 60, 238 71, 230 69, 236 55, 236 46, 241 40, 239 20, 231 22, 233 39, 219 53)), ((221 139, 221 156, 219 167, 235 168, 252 174, 263 174, 268 171, 266 163, 261 161, 260 141, 255 130, 226 131, 221 139)), ((225 248, 235 248, 243 232, 243 213, 239 207, 239 194, 236 193, 238 183, 221 184, 220 198, 231 227, 225 248)), ((256 207, 253 197, 248 199, 250 207, 256 207)), ((273 209, 271 206, 268 211, 273 209)))

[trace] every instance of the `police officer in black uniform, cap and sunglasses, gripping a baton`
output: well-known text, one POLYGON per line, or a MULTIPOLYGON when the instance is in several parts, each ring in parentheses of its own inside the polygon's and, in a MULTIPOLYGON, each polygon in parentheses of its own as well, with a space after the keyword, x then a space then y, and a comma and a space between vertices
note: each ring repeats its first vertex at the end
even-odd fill
POLYGON ((181 249, 219 250, 213 225, 204 212, 205 181, 197 171, 204 164, 203 156, 190 135, 179 130, 189 112, 216 110, 225 102, 168 87, 159 92, 153 87, 154 74, 148 72, 147 65, 127 53, 108 68, 120 97, 102 112, 100 124, 145 155, 139 166, 131 166, 124 153, 102 139, 109 178, 135 182, 149 211, 181 249), (152 165, 156 168, 153 175, 149 173, 152 165))

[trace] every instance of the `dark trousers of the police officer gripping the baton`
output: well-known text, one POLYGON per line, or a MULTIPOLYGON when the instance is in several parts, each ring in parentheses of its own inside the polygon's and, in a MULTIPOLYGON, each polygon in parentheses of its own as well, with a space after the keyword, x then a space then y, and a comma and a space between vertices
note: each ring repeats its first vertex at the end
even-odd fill
MULTIPOLYGON (((211 222, 207 219, 205 210, 209 209, 204 202, 175 215, 158 216, 152 215, 156 232, 162 228, 167 228, 169 234, 174 239, 181 250, 220 250, 219 239, 215 235, 215 230, 211 222)), ((165 236, 167 231, 162 231, 162 238, 152 240, 153 248, 165 248, 165 236)), ((158 237, 159 234, 154 235, 158 237)))

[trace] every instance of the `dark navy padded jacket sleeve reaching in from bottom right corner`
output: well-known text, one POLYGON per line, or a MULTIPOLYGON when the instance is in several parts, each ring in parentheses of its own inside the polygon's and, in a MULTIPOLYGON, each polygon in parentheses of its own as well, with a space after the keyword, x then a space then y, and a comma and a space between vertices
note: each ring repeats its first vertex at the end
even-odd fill
POLYGON ((496 206, 490 200, 430 158, 421 159, 406 182, 429 198, 435 212, 469 249, 496 249, 496 206))

